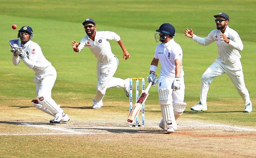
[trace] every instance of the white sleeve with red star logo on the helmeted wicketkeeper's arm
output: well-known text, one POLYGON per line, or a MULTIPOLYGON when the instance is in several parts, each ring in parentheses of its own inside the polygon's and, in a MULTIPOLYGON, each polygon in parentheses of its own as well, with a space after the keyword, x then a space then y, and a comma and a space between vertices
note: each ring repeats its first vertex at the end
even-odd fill
POLYGON ((37 58, 39 56, 39 53, 42 53, 41 47, 39 45, 36 45, 33 47, 29 52, 29 58, 25 58, 23 61, 29 68, 34 68, 34 65, 37 61, 37 58), (34 50, 34 51, 33 51, 34 50))

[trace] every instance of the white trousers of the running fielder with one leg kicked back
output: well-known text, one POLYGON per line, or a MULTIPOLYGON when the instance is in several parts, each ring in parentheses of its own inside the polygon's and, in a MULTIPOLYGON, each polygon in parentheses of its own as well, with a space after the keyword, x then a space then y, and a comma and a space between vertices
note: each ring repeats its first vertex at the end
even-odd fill
POLYGON ((118 59, 116 57, 115 59, 116 60, 110 61, 108 63, 101 63, 99 61, 97 63, 98 84, 96 89, 96 96, 93 98, 94 103, 98 103, 102 100, 108 88, 125 87, 125 80, 113 77, 119 64, 118 59))

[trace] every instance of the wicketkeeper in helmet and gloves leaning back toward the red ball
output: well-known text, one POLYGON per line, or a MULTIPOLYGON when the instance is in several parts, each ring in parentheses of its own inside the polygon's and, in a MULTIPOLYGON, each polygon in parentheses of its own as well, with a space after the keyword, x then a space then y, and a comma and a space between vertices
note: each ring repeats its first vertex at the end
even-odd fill
POLYGON ((57 73, 52 64, 44 57, 41 47, 31 39, 34 33, 31 27, 23 26, 18 31, 16 43, 12 43, 11 52, 13 52, 13 64, 16 66, 23 61, 29 68, 35 71, 34 82, 36 82, 37 99, 32 100, 32 104, 39 110, 44 111, 54 117, 50 123, 64 123, 70 120, 68 114, 65 114, 52 99, 52 88, 55 83, 57 73))

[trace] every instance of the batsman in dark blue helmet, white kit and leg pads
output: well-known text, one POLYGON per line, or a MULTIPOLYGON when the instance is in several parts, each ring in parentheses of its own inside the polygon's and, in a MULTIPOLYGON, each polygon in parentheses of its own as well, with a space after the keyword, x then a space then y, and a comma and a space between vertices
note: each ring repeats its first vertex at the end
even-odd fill
POLYGON ((186 108, 184 103, 185 84, 182 66, 182 49, 173 36, 174 27, 169 23, 162 24, 156 30, 157 45, 154 58, 150 65, 149 82, 156 84, 156 70, 160 61, 161 70, 158 84, 159 103, 162 111, 162 120, 159 127, 167 133, 177 130, 176 120, 186 108))

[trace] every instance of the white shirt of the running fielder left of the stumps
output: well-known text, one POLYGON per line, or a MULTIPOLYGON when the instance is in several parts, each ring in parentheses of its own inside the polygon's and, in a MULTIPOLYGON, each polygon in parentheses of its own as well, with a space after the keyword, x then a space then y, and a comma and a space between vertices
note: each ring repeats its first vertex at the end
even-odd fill
POLYGON ((84 47, 88 47, 101 63, 107 63, 116 60, 108 40, 116 40, 118 42, 120 39, 120 36, 115 32, 97 31, 94 41, 86 35, 80 40, 81 43, 78 49, 80 52, 84 47))

